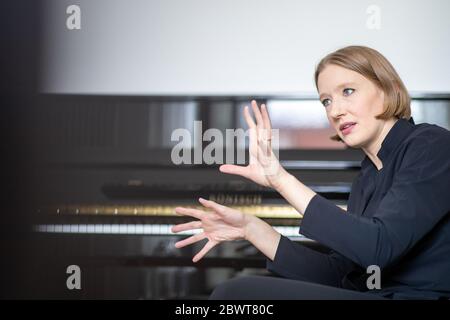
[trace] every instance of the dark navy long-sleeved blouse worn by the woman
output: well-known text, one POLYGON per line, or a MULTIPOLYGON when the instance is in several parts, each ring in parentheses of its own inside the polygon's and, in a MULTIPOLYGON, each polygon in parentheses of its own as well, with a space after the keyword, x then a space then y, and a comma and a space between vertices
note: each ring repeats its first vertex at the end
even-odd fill
POLYGON ((399 119, 384 139, 378 170, 366 156, 347 211, 320 195, 301 234, 331 249, 314 251, 282 236, 267 268, 281 276, 367 291, 366 268, 380 267, 390 298, 450 297, 450 132, 399 119))

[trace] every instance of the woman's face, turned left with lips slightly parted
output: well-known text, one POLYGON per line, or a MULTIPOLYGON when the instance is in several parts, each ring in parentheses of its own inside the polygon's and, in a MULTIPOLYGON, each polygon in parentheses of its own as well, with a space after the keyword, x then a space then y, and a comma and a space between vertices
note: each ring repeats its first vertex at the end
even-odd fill
POLYGON ((332 64, 319 74, 317 86, 328 121, 342 141, 353 148, 370 147, 386 123, 375 118, 383 112, 383 90, 361 74, 332 64), (352 125, 343 128, 345 123, 352 125))

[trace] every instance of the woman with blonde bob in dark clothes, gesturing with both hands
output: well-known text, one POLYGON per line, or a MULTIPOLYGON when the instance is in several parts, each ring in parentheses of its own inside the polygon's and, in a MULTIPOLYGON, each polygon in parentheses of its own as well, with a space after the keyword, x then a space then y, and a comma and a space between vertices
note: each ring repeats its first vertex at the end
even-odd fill
POLYGON ((303 214, 301 233, 329 247, 320 253, 280 235, 264 221, 200 199, 208 212, 177 208, 197 221, 174 232, 202 229, 178 248, 208 239, 200 260, 223 241, 246 239, 284 277, 236 278, 212 299, 371 299, 450 297, 450 133, 415 125, 410 98, 392 65, 379 52, 345 47, 322 59, 315 83, 335 140, 361 148, 365 158, 352 184, 347 212, 284 170, 271 150, 266 106, 246 107, 248 166, 220 171, 274 188, 303 214), (381 270, 381 288, 369 290, 367 267, 381 270))

